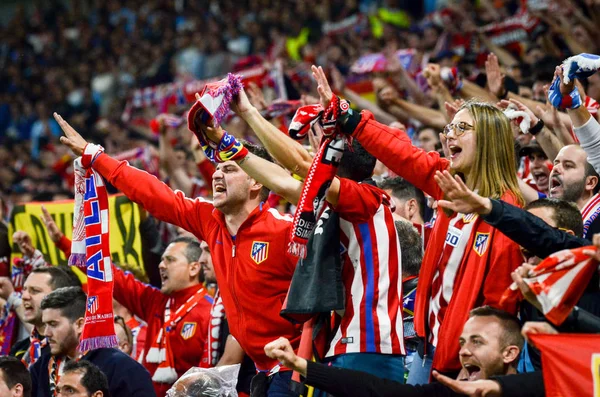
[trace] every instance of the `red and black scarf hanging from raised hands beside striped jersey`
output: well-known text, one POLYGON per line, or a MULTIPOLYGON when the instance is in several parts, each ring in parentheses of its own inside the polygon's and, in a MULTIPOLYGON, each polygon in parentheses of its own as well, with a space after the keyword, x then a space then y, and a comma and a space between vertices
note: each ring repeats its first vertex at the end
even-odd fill
POLYGON ((303 106, 290 123, 289 132, 294 139, 304 139, 317 120, 323 127, 323 141, 310 165, 294 215, 289 252, 300 258, 306 258, 308 237, 326 207, 327 191, 344 154, 347 138, 338 133, 336 121, 349 108, 347 101, 334 96, 325 111, 320 105, 303 106))

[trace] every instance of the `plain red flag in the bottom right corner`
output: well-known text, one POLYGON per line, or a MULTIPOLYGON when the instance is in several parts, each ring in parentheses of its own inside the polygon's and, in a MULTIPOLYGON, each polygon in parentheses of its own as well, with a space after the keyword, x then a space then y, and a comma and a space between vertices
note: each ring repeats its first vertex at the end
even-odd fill
POLYGON ((546 397, 600 396, 600 335, 533 334, 542 353, 546 397))

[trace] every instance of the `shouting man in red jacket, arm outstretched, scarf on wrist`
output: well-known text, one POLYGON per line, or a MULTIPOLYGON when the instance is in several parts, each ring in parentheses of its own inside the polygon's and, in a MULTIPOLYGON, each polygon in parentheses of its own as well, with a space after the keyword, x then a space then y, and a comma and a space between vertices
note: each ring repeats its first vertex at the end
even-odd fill
MULTIPOLYGON (((213 174, 213 203, 189 199, 154 176, 117 161, 100 146, 88 144, 58 114, 65 136, 61 142, 131 200, 156 218, 172 223, 206 241, 210 247, 231 334, 271 379, 268 396, 290 396, 291 372, 268 358, 265 344, 283 335, 297 347, 300 329, 279 316, 297 258, 287 253, 291 217, 265 202, 268 189, 250 178, 234 161, 213 174)), ((248 147, 267 157, 266 151, 248 147)), ((148 338, 150 338, 150 331, 148 338)))

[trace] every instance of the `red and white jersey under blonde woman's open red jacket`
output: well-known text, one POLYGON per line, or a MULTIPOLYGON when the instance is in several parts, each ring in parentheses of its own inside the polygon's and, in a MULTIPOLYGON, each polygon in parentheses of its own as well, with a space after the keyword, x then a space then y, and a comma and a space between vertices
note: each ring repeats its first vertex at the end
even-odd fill
POLYGON ((431 300, 429 303, 429 329, 431 333, 429 342, 433 346, 438 344, 438 332, 444 321, 448 303, 452 299, 456 274, 463 262, 465 251, 470 248, 468 243, 471 240, 475 219, 477 219, 476 214, 464 215, 458 213, 450 219, 448 225, 446 241, 431 286, 431 300))

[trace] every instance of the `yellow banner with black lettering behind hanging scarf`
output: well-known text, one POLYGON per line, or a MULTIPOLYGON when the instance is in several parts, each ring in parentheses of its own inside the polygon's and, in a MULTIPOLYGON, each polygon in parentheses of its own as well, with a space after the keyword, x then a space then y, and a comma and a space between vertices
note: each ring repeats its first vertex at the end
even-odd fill
MULTIPOLYGON (((73 200, 17 205, 13 208, 9 225, 13 257, 18 257, 20 254, 18 246, 12 241, 12 235, 17 230, 23 230, 29 233, 33 246, 44 254, 46 261, 53 265, 66 264, 68 258, 54 245, 42 222, 42 205, 46 207, 65 236, 69 239, 72 237, 73 200)), ((110 252, 113 262, 122 268, 132 270, 135 274, 144 275, 138 205, 123 195, 113 195, 108 197, 108 208, 110 252)))

